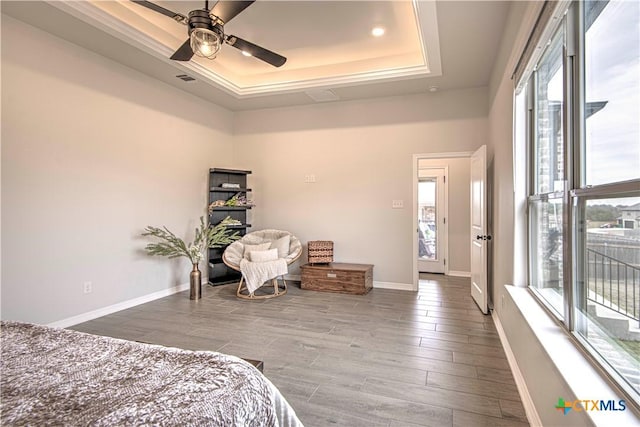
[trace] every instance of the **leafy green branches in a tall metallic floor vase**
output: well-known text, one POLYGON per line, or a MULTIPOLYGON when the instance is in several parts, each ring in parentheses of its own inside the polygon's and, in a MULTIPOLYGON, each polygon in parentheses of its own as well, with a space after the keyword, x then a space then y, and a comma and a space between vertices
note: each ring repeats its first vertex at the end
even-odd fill
POLYGON ((204 258, 204 252, 208 248, 219 248, 228 245, 240 238, 237 231, 232 232, 227 228, 230 217, 226 217, 216 225, 208 226, 204 218, 200 217, 200 227, 195 230, 195 238, 192 243, 185 243, 184 240, 173 234, 167 227, 147 226, 142 233, 143 236, 152 236, 161 240, 159 243, 149 243, 146 246, 149 255, 161 255, 169 258, 186 257, 189 258, 193 269, 190 275, 190 299, 200 299, 202 294, 201 273, 198 264, 204 258))

